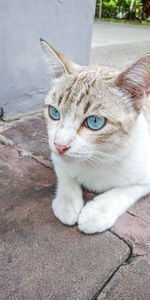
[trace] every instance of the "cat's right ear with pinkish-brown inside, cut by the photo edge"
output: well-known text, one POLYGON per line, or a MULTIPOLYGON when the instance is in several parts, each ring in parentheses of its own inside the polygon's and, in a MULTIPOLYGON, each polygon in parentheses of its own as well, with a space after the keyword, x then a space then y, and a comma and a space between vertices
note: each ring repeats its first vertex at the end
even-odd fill
POLYGON ((135 108, 140 108, 140 100, 150 92, 150 53, 119 74, 116 85, 134 101, 135 108))

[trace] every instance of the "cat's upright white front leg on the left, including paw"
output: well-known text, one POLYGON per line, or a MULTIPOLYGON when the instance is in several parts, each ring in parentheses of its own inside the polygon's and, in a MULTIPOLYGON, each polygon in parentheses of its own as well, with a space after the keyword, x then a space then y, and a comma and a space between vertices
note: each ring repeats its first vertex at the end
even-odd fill
POLYGON ((64 224, 74 225, 83 207, 82 190, 78 182, 64 170, 55 168, 58 178, 56 198, 52 209, 55 216, 64 224))

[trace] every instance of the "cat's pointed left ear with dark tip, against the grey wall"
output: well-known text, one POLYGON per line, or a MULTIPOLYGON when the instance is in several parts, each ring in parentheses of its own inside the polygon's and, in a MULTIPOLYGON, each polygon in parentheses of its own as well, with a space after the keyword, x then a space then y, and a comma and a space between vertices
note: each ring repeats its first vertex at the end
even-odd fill
POLYGON ((46 41, 40 39, 40 43, 44 50, 48 68, 53 78, 58 78, 63 74, 72 74, 80 71, 81 67, 79 65, 63 57, 46 41))

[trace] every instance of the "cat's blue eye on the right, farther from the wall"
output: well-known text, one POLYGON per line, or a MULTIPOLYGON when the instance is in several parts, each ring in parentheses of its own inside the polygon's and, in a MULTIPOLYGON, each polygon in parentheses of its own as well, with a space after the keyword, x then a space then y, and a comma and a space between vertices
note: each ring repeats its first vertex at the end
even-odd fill
POLYGON ((85 121, 84 124, 85 126, 87 126, 88 128, 92 129, 92 130, 98 130, 100 128, 102 128, 106 123, 106 119, 103 117, 95 117, 95 116, 91 116, 88 117, 85 121))

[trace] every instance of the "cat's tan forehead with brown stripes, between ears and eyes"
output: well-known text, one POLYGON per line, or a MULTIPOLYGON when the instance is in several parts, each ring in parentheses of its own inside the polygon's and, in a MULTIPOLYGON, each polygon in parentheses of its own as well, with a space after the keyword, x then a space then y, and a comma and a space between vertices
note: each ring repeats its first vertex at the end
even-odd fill
POLYGON ((64 115, 69 112, 84 116, 87 114, 122 113, 123 101, 113 81, 104 79, 95 68, 86 69, 74 75, 57 79, 46 104, 56 106, 64 115), (115 108, 116 107, 116 108, 115 108))

